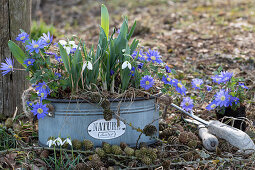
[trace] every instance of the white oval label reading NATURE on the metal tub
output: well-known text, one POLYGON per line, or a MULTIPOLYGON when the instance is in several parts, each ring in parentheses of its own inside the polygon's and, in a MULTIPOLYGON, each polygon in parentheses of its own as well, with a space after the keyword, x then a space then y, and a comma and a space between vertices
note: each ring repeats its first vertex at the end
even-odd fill
POLYGON ((88 126, 88 134, 96 139, 114 139, 123 135, 125 131, 126 125, 120 121, 120 126, 117 126, 117 119, 99 119, 88 126))

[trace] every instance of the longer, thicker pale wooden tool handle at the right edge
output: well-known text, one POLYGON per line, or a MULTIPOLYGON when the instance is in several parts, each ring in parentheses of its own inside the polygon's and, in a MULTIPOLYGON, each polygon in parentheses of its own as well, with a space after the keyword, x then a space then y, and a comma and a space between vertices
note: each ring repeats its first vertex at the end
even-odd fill
POLYGON ((252 139, 245 132, 237 128, 214 120, 209 122, 208 131, 219 138, 225 139, 245 154, 253 153, 255 150, 252 139))

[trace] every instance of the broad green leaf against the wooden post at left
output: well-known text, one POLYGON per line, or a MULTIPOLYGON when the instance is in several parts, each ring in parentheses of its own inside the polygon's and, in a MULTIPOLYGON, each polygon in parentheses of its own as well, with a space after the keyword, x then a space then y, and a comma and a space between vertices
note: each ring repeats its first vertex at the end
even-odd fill
POLYGON ((9 40, 8 46, 12 52, 12 55, 18 60, 18 62, 22 64, 23 67, 27 68, 27 66, 23 64, 26 58, 26 54, 23 52, 23 50, 11 40, 9 40))

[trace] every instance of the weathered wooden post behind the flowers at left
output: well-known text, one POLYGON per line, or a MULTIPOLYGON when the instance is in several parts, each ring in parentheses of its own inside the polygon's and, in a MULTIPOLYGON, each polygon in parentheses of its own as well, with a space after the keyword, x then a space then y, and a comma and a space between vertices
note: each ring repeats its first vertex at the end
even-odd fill
MULTIPOLYGON (((30 33, 31 0, 0 0, 0 62, 12 57, 8 40, 14 42, 19 29, 30 33)), ((21 45, 21 43, 18 43, 21 45)), ((22 68, 14 59, 14 68, 22 68)), ((21 95, 27 87, 25 71, 0 75, 0 114, 11 116, 16 107, 21 111, 21 95)))

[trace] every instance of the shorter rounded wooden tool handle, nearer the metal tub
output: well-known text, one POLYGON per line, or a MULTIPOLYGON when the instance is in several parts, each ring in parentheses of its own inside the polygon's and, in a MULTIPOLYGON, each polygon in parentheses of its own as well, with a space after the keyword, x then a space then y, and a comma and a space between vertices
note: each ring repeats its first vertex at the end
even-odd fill
POLYGON ((203 124, 198 125, 198 136, 201 138, 203 146, 208 151, 215 151, 219 145, 218 139, 214 135, 210 134, 207 127, 203 124))

